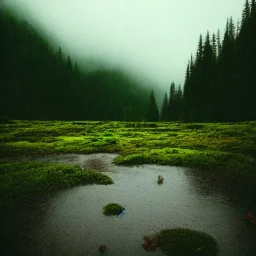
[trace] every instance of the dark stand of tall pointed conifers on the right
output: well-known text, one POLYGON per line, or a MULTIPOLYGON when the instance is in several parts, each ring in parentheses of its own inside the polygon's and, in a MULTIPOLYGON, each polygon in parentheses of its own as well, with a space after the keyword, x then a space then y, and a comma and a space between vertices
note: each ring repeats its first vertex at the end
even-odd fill
POLYGON ((200 35, 196 56, 186 70, 183 95, 171 85, 162 120, 256 120, 256 4, 246 0, 242 20, 227 20, 220 32, 200 35))

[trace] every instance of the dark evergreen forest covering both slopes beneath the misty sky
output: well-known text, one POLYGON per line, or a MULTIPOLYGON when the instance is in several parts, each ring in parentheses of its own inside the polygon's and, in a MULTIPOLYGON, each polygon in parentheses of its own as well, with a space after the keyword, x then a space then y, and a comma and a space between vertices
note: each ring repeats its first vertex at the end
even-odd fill
POLYGON ((154 92, 118 70, 81 72, 62 49, 53 51, 27 22, 0 9, 0 116, 15 119, 126 121, 256 120, 256 0, 242 20, 203 39, 158 110, 154 92), (149 97, 148 97, 149 96, 149 97))

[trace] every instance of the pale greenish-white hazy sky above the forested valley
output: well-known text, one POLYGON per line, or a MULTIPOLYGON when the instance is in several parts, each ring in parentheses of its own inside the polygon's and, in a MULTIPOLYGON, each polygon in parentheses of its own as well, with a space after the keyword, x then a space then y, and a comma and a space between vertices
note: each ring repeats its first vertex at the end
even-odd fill
POLYGON ((183 84, 199 34, 240 19, 245 0, 4 0, 72 56, 183 84))

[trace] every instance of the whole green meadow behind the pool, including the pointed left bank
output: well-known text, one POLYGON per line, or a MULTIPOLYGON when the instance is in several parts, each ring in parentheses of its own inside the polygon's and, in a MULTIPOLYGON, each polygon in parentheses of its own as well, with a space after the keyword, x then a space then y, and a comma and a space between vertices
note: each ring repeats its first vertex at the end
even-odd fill
POLYGON ((1 194, 13 197, 81 184, 110 184, 112 180, 102 173, 78 166, 68 170, 59 164, 12 160, 99 152, 118 153, 114 162, 119 165, 184 166, 218 173, 223 181, 256 182, 256 122, 13 120, 0 124, 1 194))

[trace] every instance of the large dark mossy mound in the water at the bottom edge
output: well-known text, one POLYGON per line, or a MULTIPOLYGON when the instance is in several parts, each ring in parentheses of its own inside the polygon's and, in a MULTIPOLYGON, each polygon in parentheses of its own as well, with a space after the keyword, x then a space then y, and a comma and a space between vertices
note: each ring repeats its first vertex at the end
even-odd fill
POLYGON ((159 247, 166 255, 171 256, 216 256, 216 240, 203 232, 190 229, 166 229, 144 238, 143 247, 153 250, 159 247))

